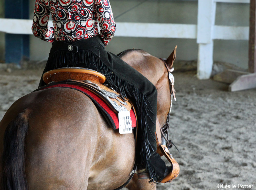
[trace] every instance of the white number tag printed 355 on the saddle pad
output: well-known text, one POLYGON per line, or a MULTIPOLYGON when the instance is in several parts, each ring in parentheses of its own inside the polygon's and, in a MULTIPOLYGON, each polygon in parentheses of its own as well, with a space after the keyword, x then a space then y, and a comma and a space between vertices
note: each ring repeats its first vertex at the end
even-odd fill
POLYGON ((129 111, 121 111, 118 113, 119 133, 132 133, 132 120, 129 111))

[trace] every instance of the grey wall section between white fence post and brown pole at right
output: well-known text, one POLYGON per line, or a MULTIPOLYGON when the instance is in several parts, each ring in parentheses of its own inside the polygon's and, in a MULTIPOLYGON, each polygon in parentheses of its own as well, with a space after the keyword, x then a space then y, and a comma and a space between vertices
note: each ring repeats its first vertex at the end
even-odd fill
MULTIPOLYGON (((216 25, 249 26, 249 4, 217 3, 216 25)), ((248 68, 249 42, 244 40, 214 40, 214 61, 248 68)))

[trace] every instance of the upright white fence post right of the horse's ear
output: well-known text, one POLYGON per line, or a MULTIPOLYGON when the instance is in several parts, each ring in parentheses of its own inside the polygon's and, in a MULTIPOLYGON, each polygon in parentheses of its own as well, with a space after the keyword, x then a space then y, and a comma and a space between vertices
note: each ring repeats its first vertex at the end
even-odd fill
POLYGON ((198 0, 197 15, 197 77, 209 79, 213 66, 213 32, 215 24, 216 2, 198 0))

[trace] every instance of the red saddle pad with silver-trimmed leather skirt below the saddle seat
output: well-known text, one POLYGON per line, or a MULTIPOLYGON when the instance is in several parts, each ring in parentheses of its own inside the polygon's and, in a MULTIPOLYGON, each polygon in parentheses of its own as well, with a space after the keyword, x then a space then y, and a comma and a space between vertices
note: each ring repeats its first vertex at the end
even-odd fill
POLYGON ((119 129, 118 113, 120 111, 129 111, 132 128, 137 126, 137 119, 132 104, 122 98, 119 93, 102 85, 96 81, 78 81, 65 80, 59 82, 50 82, 48 85, 38 88, 35 91, 44 90, 48 88, 71 88, 84 93, 91 99, 94 105, 104 115, 106 121, 113 129, 119 129))

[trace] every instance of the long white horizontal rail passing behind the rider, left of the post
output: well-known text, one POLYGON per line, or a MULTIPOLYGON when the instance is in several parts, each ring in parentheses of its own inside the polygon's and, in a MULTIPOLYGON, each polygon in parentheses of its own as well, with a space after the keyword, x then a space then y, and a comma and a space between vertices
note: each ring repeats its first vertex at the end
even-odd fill
MULTIPOLYGON (((10 34, 33 34, 33 20, 0 18, 1 32, 10 34)), ((53 27, 52 22, 48 25, 53 27)), ((187 38, 196 39, 197 25, 172 23, 116 22, 115 36, 145 38, 187 38)))

